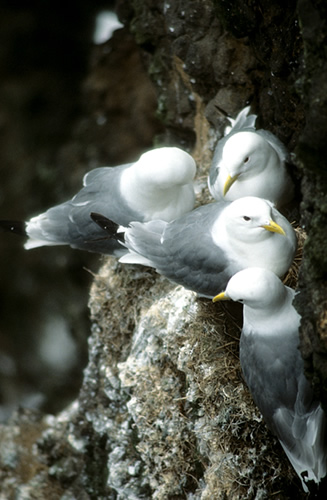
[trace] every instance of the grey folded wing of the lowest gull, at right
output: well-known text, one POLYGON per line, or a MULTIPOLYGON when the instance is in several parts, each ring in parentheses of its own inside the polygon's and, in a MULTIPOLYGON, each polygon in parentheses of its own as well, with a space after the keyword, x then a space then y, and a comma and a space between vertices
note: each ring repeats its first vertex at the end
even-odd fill
POLYGON ((318 403, 304 376, 297 345, 297 332, 282 347, 279 339, 242 334, 240 361, 245 381, 268 427, 283 446, 301 454, 308 418, 318 403))

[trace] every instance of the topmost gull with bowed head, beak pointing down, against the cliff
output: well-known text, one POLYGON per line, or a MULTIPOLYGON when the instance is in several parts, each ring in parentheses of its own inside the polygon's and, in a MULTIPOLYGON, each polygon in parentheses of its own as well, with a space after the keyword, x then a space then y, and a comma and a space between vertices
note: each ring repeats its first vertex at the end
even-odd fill
POLYGON ((256 115, 244 108, 235 120, 229 119, 225 136, 216 146, 208 186, 215 200, 233 201, 242 196, 258 196, 277 208, 294 196, 287 172, 289 153, 282 142, 267 130, 256 130, 256 115))

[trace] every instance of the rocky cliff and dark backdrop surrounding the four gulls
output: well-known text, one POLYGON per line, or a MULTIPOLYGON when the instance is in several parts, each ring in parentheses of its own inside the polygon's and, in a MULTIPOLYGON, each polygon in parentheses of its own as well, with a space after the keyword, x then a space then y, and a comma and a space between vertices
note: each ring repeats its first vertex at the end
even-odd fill
MULTIPOLYGON (((224 113, 251 103, 293 152, 308 235, 301 350, 326 407, 325 3, 121 0, 124 28, 98 45, 95 17, 110 2, 5 4, 1 218, 39 213, 91 168, 154 143, 193 154, 207 202, 224 113)), ((0 498, 305 498, 242 382, 238 310, 145 268, 105 259, 96 274, 97 256, 25 252, 10 236, 1 235, 0 498)))

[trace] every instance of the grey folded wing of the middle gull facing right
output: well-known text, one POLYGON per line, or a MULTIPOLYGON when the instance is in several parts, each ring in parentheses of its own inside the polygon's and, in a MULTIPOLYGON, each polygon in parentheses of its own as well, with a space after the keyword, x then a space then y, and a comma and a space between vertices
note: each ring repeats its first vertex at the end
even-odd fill
MULTIPOLYGON (((225 203, 193 210, 166 224, 159 235, 152 231, 145 238, 134 232, 134 249, 135 240, 138 240, 137 251, 149 259, 160 274, 199 295, 213 297, 235 272, 233 264, 214 244, 210 233, 223 206, 225 203)), ((141 229, 147 225, 137 226, 141 229)), ((135 226, 133 224, 133 228, 135 226)))

